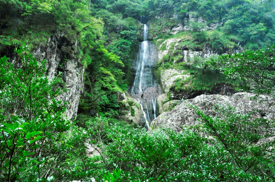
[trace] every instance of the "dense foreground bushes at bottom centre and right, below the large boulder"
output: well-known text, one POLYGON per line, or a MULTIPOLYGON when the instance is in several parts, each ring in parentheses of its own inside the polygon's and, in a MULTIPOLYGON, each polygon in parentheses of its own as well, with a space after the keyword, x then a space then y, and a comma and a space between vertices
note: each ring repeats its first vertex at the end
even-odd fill
POLYGON ((100 149, 107 170, 101 171, 103 179, 274 180, 274 141, 269 140, 274 121, 252 119, 253 113, 242 115, 230 106, 214 106, 215 117, 190 107, 198 114, 201 124, 184 127, 180 132, 108 126, 110 120, 105 117, 89 122, 89 143, 100 149))

